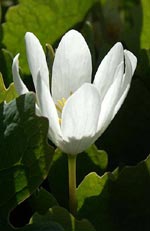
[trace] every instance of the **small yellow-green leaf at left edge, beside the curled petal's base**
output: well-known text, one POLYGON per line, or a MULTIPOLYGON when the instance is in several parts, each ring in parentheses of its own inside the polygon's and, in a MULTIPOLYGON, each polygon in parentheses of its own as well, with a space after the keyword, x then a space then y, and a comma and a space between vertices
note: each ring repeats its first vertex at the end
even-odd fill
POLYGON ((3 101, 9 102, 17 97, 14 83, 11 83, 8 88, 5 87, 3 77, 0 73, 0 103, 3 101))

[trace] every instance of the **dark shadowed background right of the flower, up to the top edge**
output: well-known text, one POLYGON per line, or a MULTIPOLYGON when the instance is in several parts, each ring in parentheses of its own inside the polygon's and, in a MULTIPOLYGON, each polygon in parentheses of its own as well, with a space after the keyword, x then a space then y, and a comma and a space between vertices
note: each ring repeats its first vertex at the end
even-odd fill
POLYGON ((140 0, 106 1, 95 9, 95 71, 117 41, 132 51, 138 65, 127 98, 108 129, 96 142, 109 155, 108 170, 134 165, 150 151, 150 63, 148 51, 140 49, 143 9, 140 0), (99 9, 101 9, 99 11, 99 9), (123 14, 123 18, 121 15, 123 14))

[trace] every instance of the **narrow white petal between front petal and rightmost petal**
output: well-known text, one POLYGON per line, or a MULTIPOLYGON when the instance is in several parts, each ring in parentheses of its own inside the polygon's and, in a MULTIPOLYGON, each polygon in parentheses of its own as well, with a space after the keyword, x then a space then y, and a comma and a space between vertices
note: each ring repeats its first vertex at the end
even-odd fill
POLYGON ((115 79, 102 101, 101 113, 99 117, 98 131, 97 131, 98 136, 100 136, 105 131, 105 129, 108 127, 111 120, 113 119, 114 108, 118 101, 120 88, 122 85, 123 72, 124 72, 124 62, 122 62, 118 66, 116 73, 114 75, 115 79))

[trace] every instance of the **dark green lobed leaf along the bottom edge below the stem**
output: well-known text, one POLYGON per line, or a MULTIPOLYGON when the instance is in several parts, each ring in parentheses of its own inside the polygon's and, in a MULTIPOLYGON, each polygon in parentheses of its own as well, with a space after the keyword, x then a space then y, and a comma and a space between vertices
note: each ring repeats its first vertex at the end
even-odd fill
POLYGON ((76 220, 66 209, 55 206, 41 216, 37 213, 31 219, 32 223, 45 223, 46 221, 53 221, 60 224, 65 231, 95 231, 93 226, 87 220, 76 220))

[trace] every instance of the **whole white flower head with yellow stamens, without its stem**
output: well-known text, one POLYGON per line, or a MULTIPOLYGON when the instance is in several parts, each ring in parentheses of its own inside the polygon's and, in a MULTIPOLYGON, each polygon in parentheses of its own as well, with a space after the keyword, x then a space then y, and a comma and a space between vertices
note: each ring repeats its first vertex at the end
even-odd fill
MULTIPOLYGON (((116 43, 91 83, 92 62, 82 35, 70 30, 55 54, 51 91, 46 58, 39 40, 25 35, 27 59, 35 86, 37 114, 49 120, 48 137, 68 154, 87 149, 105 131, 122 105, 136 68, 136 57, 116 43)), ((12 71, 19 94, 28 92, 19 75, 18 55, 12 71)))

